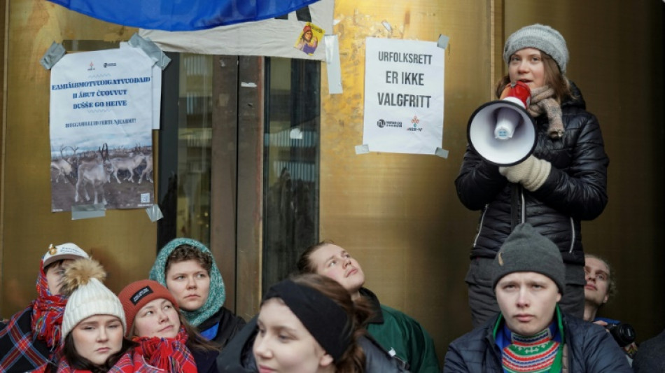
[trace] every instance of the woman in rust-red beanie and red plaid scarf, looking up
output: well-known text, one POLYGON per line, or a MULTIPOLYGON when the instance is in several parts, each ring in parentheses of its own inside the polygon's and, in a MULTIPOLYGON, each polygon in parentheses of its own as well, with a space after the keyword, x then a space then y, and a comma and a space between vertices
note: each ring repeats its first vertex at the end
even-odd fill
POLYGON ((192 328, 169 290, 157 281, 134 281, 118 293, 126 337, 139 343, 148 364, 169 373, 217 373, 219 350, 192 328))

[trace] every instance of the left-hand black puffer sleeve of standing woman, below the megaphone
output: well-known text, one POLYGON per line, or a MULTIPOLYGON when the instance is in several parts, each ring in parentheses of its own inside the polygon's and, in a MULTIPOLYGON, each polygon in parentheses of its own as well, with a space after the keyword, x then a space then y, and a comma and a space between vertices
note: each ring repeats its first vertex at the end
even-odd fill
POLYGON ((507 182, 506 178, 499 174, 498 166, 484 161, 467 146, 461 169, 455 179, 457 197, 467 209, 482 209, 496 198, 507 182))

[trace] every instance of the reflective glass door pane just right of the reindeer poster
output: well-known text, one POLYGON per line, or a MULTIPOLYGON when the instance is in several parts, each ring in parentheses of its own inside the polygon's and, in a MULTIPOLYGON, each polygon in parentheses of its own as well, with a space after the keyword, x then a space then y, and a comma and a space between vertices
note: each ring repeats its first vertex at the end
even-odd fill
POLYGON ((160 203, 164 219, 159 244, 188 237, 209 246, 213 56, 183 53, 177 57, 178 77, 169 80, 165 74, 164 80, 165 85, 177 81, 177 104, 165 97, 162 111, 165 127, 177 127, 177 133, 169 128, 162 131, 176 136, 177 142, 169 144, 162 136, 160 152, 165 153, 165 162, 160 169, 170 174, 160 203))

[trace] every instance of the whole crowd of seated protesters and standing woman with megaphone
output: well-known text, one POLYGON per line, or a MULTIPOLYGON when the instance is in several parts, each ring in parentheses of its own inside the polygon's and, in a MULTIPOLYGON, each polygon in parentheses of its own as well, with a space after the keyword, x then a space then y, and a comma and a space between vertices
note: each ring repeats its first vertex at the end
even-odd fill
POLYGON ((0 323, 0 373, 664 372, 665 332, 638 346, 628 323, 598 317, 616 276, 584 253, 581 222, 608 202, 609 160, 598 120, 565 76, 566 41, 533 24, 507 38, 503 58, 496 96, 528 86, 535 145, 517 164, 486 160, 471 143, 465 152, 456 190, 481 211, 465 277, 473 329, 442 365, 425 328, 381 304, 332 241, 304 250, 298 273, 245 321, 224 307, 209 249, 181 238, 118 295, 81 248, 48 248, 37 298, 0 323))

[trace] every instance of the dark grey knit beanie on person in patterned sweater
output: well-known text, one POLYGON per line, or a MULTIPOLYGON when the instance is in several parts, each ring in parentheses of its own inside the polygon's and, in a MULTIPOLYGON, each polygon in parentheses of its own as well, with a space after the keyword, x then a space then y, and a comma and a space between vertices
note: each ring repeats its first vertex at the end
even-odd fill
POLYGON ((559 248, 528 223, 517 225, 496 254, 492 268, 492 288, 496 288, 496 283, 503 276, 513 272, 543 274, 556 283, 561 294, 566 288, 566 267, 559 248))

